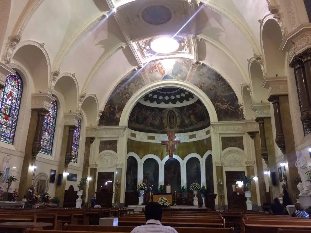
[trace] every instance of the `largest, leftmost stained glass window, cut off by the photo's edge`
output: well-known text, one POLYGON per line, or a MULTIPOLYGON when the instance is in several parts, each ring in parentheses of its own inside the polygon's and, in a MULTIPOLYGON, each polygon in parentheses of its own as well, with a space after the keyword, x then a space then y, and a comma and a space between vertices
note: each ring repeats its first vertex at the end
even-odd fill
POLYGON ((8 75, 1 95, 0 140, 2 142, 13 144, 22 93, 23 82, 20 76, 17 73, 8 75))

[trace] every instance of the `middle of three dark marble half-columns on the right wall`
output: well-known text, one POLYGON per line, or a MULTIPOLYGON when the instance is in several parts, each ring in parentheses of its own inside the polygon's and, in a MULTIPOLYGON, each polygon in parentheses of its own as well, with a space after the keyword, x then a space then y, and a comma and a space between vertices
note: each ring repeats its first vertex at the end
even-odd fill
POLYGON ((276 129, 275 143, 281 149, 281 152, 284 154, 285 153, 285 139, 284 139, 284 133, 283 133, 283 127, 282 127, 279 96, 270 95, 268 98, 268 101, 273 104, 274 121, 275 121, 275 129, 276 129))

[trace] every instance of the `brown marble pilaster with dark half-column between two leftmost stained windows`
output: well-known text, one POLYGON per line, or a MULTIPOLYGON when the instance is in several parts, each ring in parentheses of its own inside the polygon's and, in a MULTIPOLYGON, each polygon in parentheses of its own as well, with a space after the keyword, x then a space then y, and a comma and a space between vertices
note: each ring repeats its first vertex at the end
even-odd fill
POLYGON ((42 127, 45 114, 48 110, 32 109, 29 122, 29 130, 26 139, 25 156, 21 168, 21 178, 19 183, 19 198, 22 199, 27 194, 28 189, 32 185, 32 177, 34 171, 30 169, 35 165, 36 156, 41 150, 42 127))

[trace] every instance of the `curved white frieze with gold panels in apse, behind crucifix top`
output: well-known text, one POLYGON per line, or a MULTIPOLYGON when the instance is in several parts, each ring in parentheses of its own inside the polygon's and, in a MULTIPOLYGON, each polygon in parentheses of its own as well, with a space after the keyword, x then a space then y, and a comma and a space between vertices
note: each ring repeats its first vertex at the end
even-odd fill
MULTIPOLYGON (((198 141, 198 140, 211 137, 211 132, 210 132, 210 127, 208 127, 204 130, 194 131, 190 133, 176 133, 175 136, 176 136, 176 140, 180 140, 181 142, 192 142, 192 141, 198 141), (193 135, 195 135, 195 137, 193 135)), ((128 129, 128 138, 135 140, 135 141, 141 141, 141 142, 161 143, 161 141, 167 140, 167 135, 166 134, 143 133, 143 132, 138 132, 135 130, 128 129), (154 139, 148 139, 150 138, 150 136, 154 139)))

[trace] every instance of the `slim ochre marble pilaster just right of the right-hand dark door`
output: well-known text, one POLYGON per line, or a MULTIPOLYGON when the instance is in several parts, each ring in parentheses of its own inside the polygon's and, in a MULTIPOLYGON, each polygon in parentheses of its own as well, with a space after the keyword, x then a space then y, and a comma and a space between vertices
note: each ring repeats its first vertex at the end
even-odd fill
POLYGON ((260 135, 259 132, 251 132, 254 140, 256 168, 258 176, 259 196, 261 204, 266 202, 265 177, 263 174, 263 164, 261 156, 260 135))

